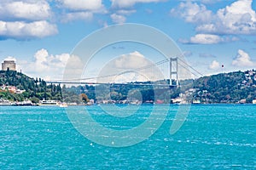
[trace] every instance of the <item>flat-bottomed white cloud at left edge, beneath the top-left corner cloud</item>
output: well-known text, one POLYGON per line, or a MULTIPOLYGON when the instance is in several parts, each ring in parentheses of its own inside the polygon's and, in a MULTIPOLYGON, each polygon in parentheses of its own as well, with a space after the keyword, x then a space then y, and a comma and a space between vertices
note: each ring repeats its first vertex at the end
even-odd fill
POLYGON ((5 22, 0 20, 0 37, 15 39, 31 39, 47 37, 57 33, 57 27, 45 20, 34 22, 5 22))

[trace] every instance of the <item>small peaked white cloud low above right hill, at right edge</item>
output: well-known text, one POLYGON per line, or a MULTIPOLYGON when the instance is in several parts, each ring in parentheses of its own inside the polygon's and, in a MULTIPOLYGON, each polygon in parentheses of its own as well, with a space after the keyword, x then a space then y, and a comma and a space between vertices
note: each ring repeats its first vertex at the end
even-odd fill
POLYGON ((236 55, 236 59, 232 61, 232 65, 235 66, 255 66, 256 63, 254 63, 246 52, 239 49, 236 55))

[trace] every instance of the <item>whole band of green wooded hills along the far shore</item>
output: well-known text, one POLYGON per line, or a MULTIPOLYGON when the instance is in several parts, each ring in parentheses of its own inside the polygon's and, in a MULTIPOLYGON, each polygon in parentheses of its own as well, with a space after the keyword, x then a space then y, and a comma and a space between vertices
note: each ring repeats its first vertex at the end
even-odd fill
MULTIPOLYGON (((166 81, 160 81, 168 83, 166 81)), ((193 91, 193 99, 198 99, 201 103, 237 103, 241 99, 246 99, 247 103, 252 103, 256 99, 256 71, 235 71, 222 73, 209 77, 200 77, 195 80, 181 81, 187 86, 181 87, 154 87, 138 84, 111 84, 111 85, 85 85, 61 88, 60 84, 47 84, 41 78, 27 77, 17 71, 0 71, 0 87, 15 86, 23 90, 22 94, 15 94, 9 90, 0 90, 0 99, 10 101, 23 101, 25 99, 38 103, 42 99, 55 99, 67 103, 81 102, 80 94, 86 94, 86 98, 97 100, 123 101, 126 99, 140 100, 143 103, 161 100, 163 103, 172 103, 171 99, 176 99, 188 91, 193 91)), ((149 82, 150 83, 150 82, 149 82)), ((154 84, 155 82, 153 82, 154 84)))

